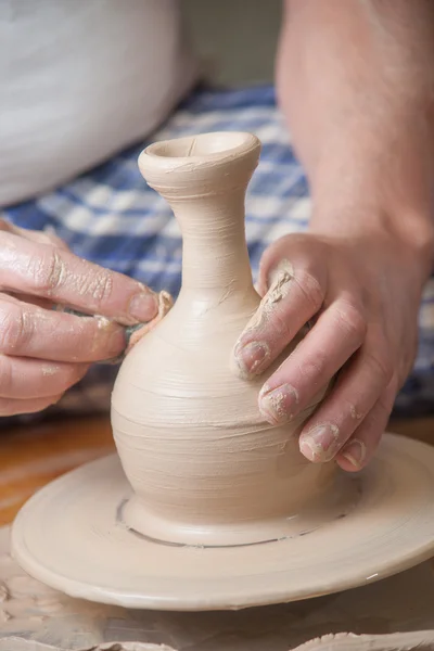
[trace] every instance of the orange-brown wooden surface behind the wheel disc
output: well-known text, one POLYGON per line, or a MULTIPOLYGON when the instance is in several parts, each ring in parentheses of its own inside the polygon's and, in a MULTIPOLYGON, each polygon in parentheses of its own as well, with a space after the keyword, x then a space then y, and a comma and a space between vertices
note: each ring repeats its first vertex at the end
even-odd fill
MULTIPOLYGON (((434 418, 395 421, 388 430, 434 445, 434 418)), ((113 449, 108 417, 0 432, 0 526, 10 523, 39 487, 113 449)))

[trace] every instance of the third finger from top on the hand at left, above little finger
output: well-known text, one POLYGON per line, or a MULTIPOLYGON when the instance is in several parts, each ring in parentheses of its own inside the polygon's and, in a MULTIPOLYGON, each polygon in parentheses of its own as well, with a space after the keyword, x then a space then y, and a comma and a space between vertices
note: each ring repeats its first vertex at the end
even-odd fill
POLYGON ((88 365, 0 355, 0 398, 47 398, 81 380, 88 365))

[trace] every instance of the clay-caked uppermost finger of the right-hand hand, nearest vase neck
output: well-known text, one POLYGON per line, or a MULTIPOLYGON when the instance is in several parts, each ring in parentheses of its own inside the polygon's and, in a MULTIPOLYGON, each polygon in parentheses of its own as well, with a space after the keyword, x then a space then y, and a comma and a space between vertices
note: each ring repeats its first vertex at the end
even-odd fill
POLYGON ((263 373, 321 308, 326 279, 282 266, 233 349, 242 378, 263 373))

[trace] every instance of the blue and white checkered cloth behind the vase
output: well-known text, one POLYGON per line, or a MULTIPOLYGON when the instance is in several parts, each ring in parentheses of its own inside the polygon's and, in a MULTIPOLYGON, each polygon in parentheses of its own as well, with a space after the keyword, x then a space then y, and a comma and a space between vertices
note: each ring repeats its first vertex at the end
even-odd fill
MULTIPOLYGON (((165 201, 143 181, 137 158, 151 141, 216 130, 252 131, 263 142, 260 164, 246 200, 246 237, 256 276, 266 246, 283 234, 304 231, 310 214, 306 177, 294 157, 272 87, 199 89, 149 140, 54 192, 5 209, 3 216, 23 228, 53 229, 80 257, 176 296, 180 233, 165 201)), ((434 283, 430 281, 420 312, 418 358, 396 400, 396 412, 433 411, 433 352, 434 283)), ((58 410, 106 410, 116 372, 117 368, 94 366, 67 392, 58 410)))

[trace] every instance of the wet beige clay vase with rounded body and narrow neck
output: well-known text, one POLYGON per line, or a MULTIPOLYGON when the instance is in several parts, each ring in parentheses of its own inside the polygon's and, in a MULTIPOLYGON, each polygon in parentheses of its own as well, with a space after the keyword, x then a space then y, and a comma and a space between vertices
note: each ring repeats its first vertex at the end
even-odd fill
POLYGON ((157 142, 139 157, 183 242, 179 297, 128 354, 112 396, 114 438, 132 487, 123 519, 152 539, 233 546, 295 535, 306 526, 303 513, 319 513, 332 494, 334 464, 307 461, 296 436, 326 388, 298 418, 271 426, 258 393, 276 365, 256 380, 231 367, 260 301, 244 232, 259 151, 251 133, 217 132, 157 142))

